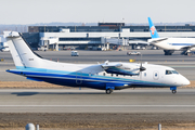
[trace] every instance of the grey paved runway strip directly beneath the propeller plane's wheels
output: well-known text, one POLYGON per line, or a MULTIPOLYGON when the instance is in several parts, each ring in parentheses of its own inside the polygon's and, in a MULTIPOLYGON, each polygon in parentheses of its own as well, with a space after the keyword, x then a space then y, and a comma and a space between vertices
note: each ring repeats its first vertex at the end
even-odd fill
POLYGON ((195 113, 194 101, 194 89, 2 89, 0 113, 195 113))

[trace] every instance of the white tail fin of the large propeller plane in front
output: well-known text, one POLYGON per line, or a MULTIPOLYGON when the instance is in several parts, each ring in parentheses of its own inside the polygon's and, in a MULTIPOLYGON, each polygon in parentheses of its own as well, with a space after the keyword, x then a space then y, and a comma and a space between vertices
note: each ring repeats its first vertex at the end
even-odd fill
POLYGON ((6 42, 17 69, 41 67, 42 60, 31 51, 30 47, 16 31, 6 32, 6 42))

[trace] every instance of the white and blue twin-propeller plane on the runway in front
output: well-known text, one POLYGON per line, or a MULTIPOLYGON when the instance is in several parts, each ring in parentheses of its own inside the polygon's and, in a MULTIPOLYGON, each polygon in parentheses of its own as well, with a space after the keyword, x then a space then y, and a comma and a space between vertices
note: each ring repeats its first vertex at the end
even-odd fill
POLYGON ((170 88, 176 93, 177 87, 190 84, 173 68, 160 65, 108 61, 104 64, 87 65, 44 60, 31 51, 16 31, 9 32, 6 42, 16 66, 16 69, 6 72, 36 81, 105 90, 107 94, 126 88, 170 88))

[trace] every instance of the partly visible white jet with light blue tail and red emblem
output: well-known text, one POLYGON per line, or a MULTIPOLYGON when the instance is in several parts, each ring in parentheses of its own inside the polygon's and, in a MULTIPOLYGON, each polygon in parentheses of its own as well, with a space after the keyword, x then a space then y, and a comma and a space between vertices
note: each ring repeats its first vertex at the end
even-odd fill
POLYGON ((148 24, 152 39, 147 42, 164 49, 165 55, 171 55, 174 51, 183 51, 181 54, 187 55, 195 50, 195 38, 159 38, 151 17, 148 24))

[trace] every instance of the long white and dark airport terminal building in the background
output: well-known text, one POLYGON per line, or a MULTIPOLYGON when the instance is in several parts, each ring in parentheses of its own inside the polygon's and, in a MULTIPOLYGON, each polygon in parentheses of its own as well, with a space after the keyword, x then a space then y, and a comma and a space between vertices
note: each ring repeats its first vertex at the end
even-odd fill
MULTIPOLYGON (((160 37, 195 38, 195 26, 156 26, 160 37)), ((29 26, 23 37, 35 49, 62 50, 69 47, 78 49, 110 49, 146 42, 151 39, 148 26, 126 26, 125 23, 99 23, 98 26, 29 26)))

